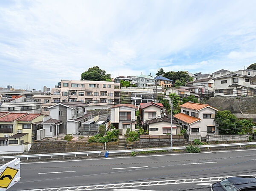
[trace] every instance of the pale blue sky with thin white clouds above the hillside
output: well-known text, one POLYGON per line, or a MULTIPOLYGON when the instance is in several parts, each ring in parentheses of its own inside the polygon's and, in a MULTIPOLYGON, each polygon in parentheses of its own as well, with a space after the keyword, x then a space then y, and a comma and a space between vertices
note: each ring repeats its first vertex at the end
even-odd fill
POLYGON ((256 63, 255 0, 0 0, 0 87, 256 63))

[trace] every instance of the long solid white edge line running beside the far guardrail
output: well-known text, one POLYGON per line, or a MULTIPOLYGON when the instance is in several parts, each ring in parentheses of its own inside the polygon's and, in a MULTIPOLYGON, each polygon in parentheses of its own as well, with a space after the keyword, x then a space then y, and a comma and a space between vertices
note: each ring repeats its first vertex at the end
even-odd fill
MULTIPOLYGON (((256 149, 245 149, 245 150, 232 150, 232 151, 215 151, 216 153, 221 152, 241 152, 241 151, 256 151, 256 149)), ((187 154, 207 154, 212 152, 201 152, 201 153, 179 153, 179 154, 157 154, 157 155, 146 155, 146 156, 137 156, 141 157, 162 157, 162 156, 172 156, 172 155, 187 155, 187 154)), ((79 159, 79 160, 55 160, 55 161, 44 161, 44 162, 23 162, 23 164, 38 164, 38 163, 53 163, 53 162, 75 162, 75 161, 87 161, 87 160, 112 160, 112 159, 125 159, 125 158, 135 158, 135 157, 109 157, 109 158, 100 158, 100 159, 79 159)))

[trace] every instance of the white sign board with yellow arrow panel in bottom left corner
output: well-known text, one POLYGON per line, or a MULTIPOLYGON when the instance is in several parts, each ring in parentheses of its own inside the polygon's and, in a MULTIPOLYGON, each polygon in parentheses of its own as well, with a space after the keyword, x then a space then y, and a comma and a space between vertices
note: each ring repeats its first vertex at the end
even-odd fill
POLYGON ((6 191, 20 181, 20 159, 0 166, 0 191, 6 191))

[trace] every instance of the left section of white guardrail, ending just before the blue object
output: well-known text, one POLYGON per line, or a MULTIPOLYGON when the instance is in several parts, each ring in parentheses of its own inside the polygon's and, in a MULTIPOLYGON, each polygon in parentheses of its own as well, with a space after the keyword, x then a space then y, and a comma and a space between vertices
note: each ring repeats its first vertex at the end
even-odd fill
POLYGON ((53 156, 63 156, 63 158, 66 155, 75 155, 75 157, 79 154, 101 154, 101 151, 85 151, 85 152, 70 152, 70 153, 49 153, 49 154, 27 154, 27 155, 16 155, 16 156, 5 156, 5 157, 0 157, 0 159, 4 160, 4 159, 12 159, 12 158, 27 158, 27 160, 29 160, 29 158, 34 158, 34 157, 39 157, 39 159, 41 159, 41 157, 53 157, 53 156))

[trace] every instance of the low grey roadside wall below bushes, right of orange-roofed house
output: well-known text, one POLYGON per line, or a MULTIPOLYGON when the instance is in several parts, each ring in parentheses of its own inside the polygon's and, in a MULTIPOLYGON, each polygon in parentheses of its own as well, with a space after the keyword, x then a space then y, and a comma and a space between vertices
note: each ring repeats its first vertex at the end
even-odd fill
POLYGON ((248 134, 237 134, 237 135, 207 135, 206 141, 247 141, 248 134))

